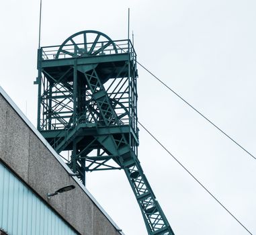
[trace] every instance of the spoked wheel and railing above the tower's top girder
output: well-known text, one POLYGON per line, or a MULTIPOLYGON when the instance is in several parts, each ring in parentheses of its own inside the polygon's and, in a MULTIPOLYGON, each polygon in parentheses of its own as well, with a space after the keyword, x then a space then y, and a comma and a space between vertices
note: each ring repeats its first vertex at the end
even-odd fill
MULTIPOLYGON (((131 60, 136 60, 136 52, 130 40, 114 41, 107 35, 94 30, 85 30, 73 34, 60 46, 42 47, 40 52, 41 54, 38 57, 41 60, 99 56, 98 60, 106 61, 110 60, 114 55, 120 57, 120 55, 127 56, 127 54, 130 54, 131 60)), ((92 61, 95 62, 95 58, 92 61)))

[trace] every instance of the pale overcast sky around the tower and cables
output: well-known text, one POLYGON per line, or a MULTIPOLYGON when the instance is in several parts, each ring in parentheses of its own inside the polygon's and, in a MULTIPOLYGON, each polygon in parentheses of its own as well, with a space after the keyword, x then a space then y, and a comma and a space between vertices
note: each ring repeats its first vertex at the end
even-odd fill
MULTIPOLYGON (((81 30, 127 38, 138 61, 256 155, 255 0, 42 0, 42 46, 81 30)), ((0 85, 36 126, 39 0, 0 3, 0 85)), ((256 160, 138 66, 138 117, 256 234, 256 160)), ((139 159, 175 234, 248 234, 140 128, 139 159)), ((126 235, 146 234, 122 171, 87 187, 126 235)))

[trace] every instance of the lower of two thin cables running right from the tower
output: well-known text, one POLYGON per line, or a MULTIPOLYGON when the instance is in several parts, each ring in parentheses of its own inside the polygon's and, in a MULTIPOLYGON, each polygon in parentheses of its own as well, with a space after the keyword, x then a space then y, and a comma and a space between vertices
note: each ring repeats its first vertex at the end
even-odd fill
MULTIPOLYGON (((138 121, 138 120, 137 120, 138 121)), ((196 180, 197 183, 199 183, 199 185, 215 200, 217 201, 222 208, 224 208, 228 214, 230 214, 230 216, 232 216, 232 218, 234 218, 234 220, 236 220, 245 230, 247 230, 247 232, 249 232, 249 234, 253 235, 243 224, 241 221, 239 221, 189 170, 187 170, 187 168, 173 155, 171 154, 171 152, 169 152, 169 150, 163 145, 161 144, 161 142, 151 133, 149 132, 149 130, 142 125, 139 121, 138 124, 140 124, 140 126, 166 151, 168 152, 169 155, 171 155, 173 157, 173 159, 178 162, 178 164, 185 170, 187 171, 187 173, 189 173, 189 175, 191 177, 193 177, 194 180, 196 180)))

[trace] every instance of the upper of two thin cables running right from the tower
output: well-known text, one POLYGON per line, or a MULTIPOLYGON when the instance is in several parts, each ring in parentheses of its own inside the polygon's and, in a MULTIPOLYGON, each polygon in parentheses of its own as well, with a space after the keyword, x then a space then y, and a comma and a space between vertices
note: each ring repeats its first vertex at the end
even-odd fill
POLYGON ((202 118, 204 118, 206 121, 208 121, 210 124, 212 124, 212 126, 214 126, 216 129, 218 129, 220 132, 222 132, 222 134, 224 134, 227 138, 229 138, 230 140, 232 140, 232 142, 234 142, 234 144, 237 144, 237 146, 239 146, 241 149, 243 149, 245 152, 247 152, 247 154, 249 154, 251 157, 253 157, 256 160, 256 157, 253 156, 253 154, 251 154, 251 152, 249 152, 248 150, 246 150, 243 146, 241 146, 241 144, 239 144, 236 140, 234 140, 233 138, 231 138, 228 134, 226 134, 226 132, 224 132, 222 129, 220 129, 218 126, 216 126, 216 124, 214 124, 212 121, 210 121, 208 118, 206 118, 206 116, 204 114, 202 114, 200 111, 198 111, 198 109, 196 109, 196 107, 194 107, 193 105, 191 105, 190 103, 188 103, 185 99, 183 99, 183 97, 181 97, 181 95, 177 94, 175 91, 173 91, 173 89, 171 89, 166 83, 164 83, 163 81, 161 81, 161 79, 159 79, 156 75, 154 75, 151 71, 149 71, 145 66, 143 66, 142 64, 140 64, 140 62, 136 61, 137 64, 139 64, 142 68, 144 68, 145 71, 147 71, 150 75, 152 75, 153 77, 155 77, 155 79, 157 79, 157 81, 159 81, 162 85, 164 85, 167 89, 169 89, 169 91, 171 91, 173 94, 175 94, 177 97, 179 97, 179 99, 181 99, 183 102, 185 102, 187 105, 189 105, 189 107, 191 107, 192 109, 194 109, 194 111, 196 111, 199 115, 202 116, 202 118))

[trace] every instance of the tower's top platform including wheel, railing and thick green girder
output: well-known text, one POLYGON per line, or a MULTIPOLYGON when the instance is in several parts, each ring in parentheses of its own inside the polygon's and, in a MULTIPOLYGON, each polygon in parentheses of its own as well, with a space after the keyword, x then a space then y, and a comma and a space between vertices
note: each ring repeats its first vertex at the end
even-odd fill
POLYGON ((46 46, 38 51, 38 65, 49 75, 48 79, 52 75, 56 77, 56 73, 61 76, 70 66, 83 65, 83 69, 85 66, 89 69, 95 64, 101 78, 108 80, 110 74, 128 77, 128 61, 130 66, 136 67, 136 52, 130 40, 113 41, 93 30, 78 32, 60 46, 46 46))

